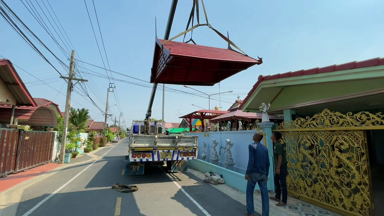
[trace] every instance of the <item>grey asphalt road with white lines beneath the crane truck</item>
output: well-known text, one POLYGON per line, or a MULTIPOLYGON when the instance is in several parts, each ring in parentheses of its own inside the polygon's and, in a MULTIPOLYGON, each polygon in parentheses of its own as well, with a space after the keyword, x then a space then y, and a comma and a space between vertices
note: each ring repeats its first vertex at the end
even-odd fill
POLYGON ((98 151, 95 155, 103 157, 97 161, 68 167, 26 188, 17 216, 244 215, 243 204, 188 171, 146 167, 144 175, 124 176, 127 141, 98 151), (116 183, 137 185, 139 191, 120 193, 111 189, 116 183))

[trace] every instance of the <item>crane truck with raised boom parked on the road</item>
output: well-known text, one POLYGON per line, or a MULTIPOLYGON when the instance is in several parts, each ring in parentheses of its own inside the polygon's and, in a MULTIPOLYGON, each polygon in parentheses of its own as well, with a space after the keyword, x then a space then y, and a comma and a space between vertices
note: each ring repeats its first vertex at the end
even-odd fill
MULTIPOLYGON (((169 38, 176 5, 177 0, 173 0, 164 37, 166 40, 169 38)), ((161 166, 164 163, 172 172, 184 171, 187 169, 187 161, 197 158, 198 136, 165 135, 161 123, 151 121, 157 85, 153 84, 145 120, 132 123, 125 175, 144 174, 145 166, 161 166), (134 124, 139 125, 137 133, 134 133, 134 124)))

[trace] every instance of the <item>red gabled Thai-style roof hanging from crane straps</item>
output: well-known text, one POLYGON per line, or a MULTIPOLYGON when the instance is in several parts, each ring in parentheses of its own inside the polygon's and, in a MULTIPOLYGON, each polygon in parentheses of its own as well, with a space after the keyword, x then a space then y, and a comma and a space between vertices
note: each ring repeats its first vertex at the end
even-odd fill
POLYGON ((212 86, 263 63, 232 49, 164 42, 156 38, 151 83, 212 86))

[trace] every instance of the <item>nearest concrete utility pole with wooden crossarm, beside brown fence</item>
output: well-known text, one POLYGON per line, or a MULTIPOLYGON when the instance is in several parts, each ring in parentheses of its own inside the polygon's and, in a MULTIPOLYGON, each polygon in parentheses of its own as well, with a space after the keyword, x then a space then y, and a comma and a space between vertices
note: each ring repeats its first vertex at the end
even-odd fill
POLYGON ((88 80, 73 78, 73 70, 74 70, 74 50, 72 50, 72 53, 71 53, 70 71, 68 73, 68 77, 60 76, 60 78, 68 80, 67 95, 65 100, 63 137, 61 138, 60 163, 64 163, 65 145, 67 141, 68 119, 70 115, 70 106, 71 106, 71 93, 72 93, 73 86, 76 85, 79 81, 88 82, 88 80), (77 82, 72 84, 72 80, 77 80, 77 82))

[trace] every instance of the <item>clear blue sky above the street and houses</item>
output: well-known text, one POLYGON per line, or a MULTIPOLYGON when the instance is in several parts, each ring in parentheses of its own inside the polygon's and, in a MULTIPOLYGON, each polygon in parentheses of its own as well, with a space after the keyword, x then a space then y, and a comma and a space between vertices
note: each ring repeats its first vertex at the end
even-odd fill
MULTIPOLYGON (((46 0, 37 0, 45 10, 41 1, 46 3, 46 0)), ((49 1, 76 50, 76 58, 104 67, 84 1, 49 1)), ((5 0, 5 2, 55 55, 69 65, 68 58, 70 54, 64 55, 60 52, 51 37, 22 4, 22 1, 5 0)), ((23 2, 26 1, 23 0, 23 2)), ((58 35, 55 34, 40 8, 38 8, 36 1, 32 0, 31 2, 34 3, 55 38, 61 43, 58 35)), ((106 61, 92 1, 86 0, 86 2, 96 37, 101 46, 103 59, 106 61)), ((94 2, 111 70, 149 81, 154 50, 155 17, 157 18, 157 34, 159 38, 162 38, 171 0, 94 0, 94 2)), ((222 94, 222 101, 211 99, 211 108, 218 105, 222 106, 223 110, 227 110, 236 100, 237 95, 240 95, 241 99, 245 98, 259 75, 384 57, 382 52, 384 50, 384 43, 382 42, 382 36, 384 35, 384 13, 382 13, 384 1, 205 0, 204 3, 212 26, 222 33, 228 31, 230 39, 249 56, 254 58, 257 58, 257 56, 263 57, 262 65, 253 66, 222 81, 220 88, 218 85, 212 87, 195 86, 194 88, 207 93, 233 90, 233 93, 222 94)), ((49 8, 47 3, 46 6, 49 8)), ((170 34, 171 37, 185 30, 191 7, 192 0, 179 0, 170 34)), ((202 10, 200 10, 200 13, 200 22, 204 22, 202 10)), ((48 13, 46 15, 49 17, 48 13)), ((50 21, 52 22, 51 18, 50 21)), ((53 22, 52 24, 56 28, 53 22)), ((2 27, 0 28, 2 41, 0 55, 10 59, 12 63, 41 80, 59 76, 22 38, 18 37, 2 18, 0 18, 0 26, 2 27)), ((56 30, 58 29, 56 28, 56 30)), ((226 42, 207 27, 197 28, 193 32, 193 39, 201 45, 227 47, 226 42)), ((180 41, 182 37, 176 40, 180 41)), ((35 42, 35 44, 37 43, 35 42)), ((61 73, 68 74, 68 71, 61 67, 48 51, 41 46, 38 46, 38 48, 61 73)), ((80 63, 77 65, 78 68, 83 66, 80 63)), ((105 70, 84 65, 89 70, 106 75, 105 70)), ((28 90, 33 97, 54 99, 54 102, 60 105, 60 109, 64 110, 65 96, 58 94, 57 91, 39 82, 28 73, 18 68, 17 71, 22 80, 28 83, 26 86, 30 86, 28 90)), ((89 73, 94 72, 90 71, 89 73)), ((76 76, 79 76, 79 74, 76 74, 76 76)), ((88 76, 83 75, 84 78, 92 79, 86 84, 89 95, 101 110, 105 110, 106 90, 109 80, 108 78, 99 78, 93 75, 88 76)), ((110 73, 109 76, 111 76, 110 73)), ((113 78, 143 83, 116 73, 113 73, 113 78)), ((61 93, 66 93, 66 85, 63 80, 51 79, 45 82, 61 93)), ((117 95, 115 92, 115 96, 118 98, 119 106, 110 108, 113 117, 117 116, 118 118, 120 111, 122 111, 127 125, 130 125, 133 119, 144 118, 151 88, 120 81, 114 81, 114 83, 117 92, 117 95)), ((169 87, 198 93, 183 86, 169 87)), ((198 96, 166 91, 165 98, 165 120, 168 122, 179 122, 177 110, 185 115, 199 109, 192 106, 191 103, 204 108, 208 106, 208 99, 198 96)), ((83 98, 76 92, 73 93, 72 99, 73 107, 88 108, 91 110, 90 114, 94 120, 104 120, 101 111, 92 105, 89 99, 83 98)), ((109 105, 116 104, 112 93, 110 93, 109 99, 109 105)), ((214 97, 213 99, 218 100, 219 98, 214 97)), ((161 89, 158 89, 152 117, 161 118, 161 106, 162 92, 161 89)), ((112 121, 109 120, 109 123, 111 124, 112 121)))

